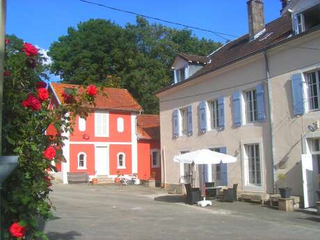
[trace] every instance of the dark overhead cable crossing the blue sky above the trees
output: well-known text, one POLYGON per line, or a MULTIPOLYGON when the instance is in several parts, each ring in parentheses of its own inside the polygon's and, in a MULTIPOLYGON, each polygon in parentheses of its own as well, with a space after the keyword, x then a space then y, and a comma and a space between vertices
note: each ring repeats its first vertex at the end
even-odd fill
POLYGON ((227 35, 227 36, 230 36, 232 38, 239 38, 239 36, 237 36, 237 35, 232 35, 232 34, 227 34, 227 33, 220 33, 220 32, 212 31, 212 30, 209 30, 209 29, 202 29, 202 28, 199 28, 197 26, 189 26, 189 25, 186 25, 186 24, 181 24, 179 22, 171 22, 171 21, 168 21, 166 19, 161 19, 159 17, 150 17, 150 16, 147 16, 147 15, 143 15, 143 14, 140 14, 140 13, 135 13, 135 12, 128 11, 128 10, 123 10, 123 9, 120 9, 120 8, 113 8, 111 6, 106 6, 106 5, 102 4, 102 3, 95 3, 93 1, 87 1, 87 0, 79 0, 79 1, 82 1, 83 3, 89 3, 89 4, 92 4, 92 5, 96 5, 96 6, 101 6, 101 7, 104 7, 104 8, 109 8, 111 10, 115 10, 115 11, 122 12, 122 13, 129 13, 129 14, 132 14, 132 15, 141 16, 141 17, 145 17, 145 18, 148 18, 148 19, 154 19, 154 20, 157 20, 157 21, 160 21, 160 22, 166 22, 168 24, 175 24, 177 26, 184 26, 184 27, 186 27, 188 29, 196 29, 196 30, 199 30, 199 31, 205 31, 205 32, 208 32, 208 33, 213 33, 214 35, 218 36, 219 38, 223 38, 224 40, 227 40, 227 41, 229 41, 229 39, 223 37, 222 35, 227 35))

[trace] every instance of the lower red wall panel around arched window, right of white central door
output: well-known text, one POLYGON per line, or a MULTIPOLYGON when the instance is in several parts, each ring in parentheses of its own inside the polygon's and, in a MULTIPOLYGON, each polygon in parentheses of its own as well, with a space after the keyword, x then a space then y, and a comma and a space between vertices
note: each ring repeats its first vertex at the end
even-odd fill
POLYGON ((132 159, 131 159, 131 145, 110 145, 109 159, 110 159, 110 174, 117 175, 119 170, 120 174, 132 174, 132 159), (117 154, 119 152, 125 153, 125 169, 118 169, 117 154))

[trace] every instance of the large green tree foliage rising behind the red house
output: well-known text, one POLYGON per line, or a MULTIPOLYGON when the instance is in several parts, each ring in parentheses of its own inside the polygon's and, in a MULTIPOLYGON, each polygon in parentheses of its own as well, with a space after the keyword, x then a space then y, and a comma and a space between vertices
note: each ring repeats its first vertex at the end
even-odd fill
POLYGON ((68 28, 49 49, 51 72, 67 83, 106 83, 127 88, 145 109, 157 113, 154 91, 173 79, 170 65, 178 52, 206 56, 221 43, 199 39, 189 30, 149 24, 137 17, 124 28, 104 19, 68 28))

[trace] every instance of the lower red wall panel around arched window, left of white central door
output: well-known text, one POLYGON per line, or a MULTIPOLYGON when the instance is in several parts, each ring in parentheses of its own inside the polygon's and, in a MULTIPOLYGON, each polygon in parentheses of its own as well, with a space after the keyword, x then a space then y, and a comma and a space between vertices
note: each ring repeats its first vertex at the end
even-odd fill
POLYGON ((70 144, 70 172, 87 172, 89 175, 95 175, 95 145, 93 144, 70 144), (78 154, 84 152, 87 154, 87 169, 78 170, 78 154))

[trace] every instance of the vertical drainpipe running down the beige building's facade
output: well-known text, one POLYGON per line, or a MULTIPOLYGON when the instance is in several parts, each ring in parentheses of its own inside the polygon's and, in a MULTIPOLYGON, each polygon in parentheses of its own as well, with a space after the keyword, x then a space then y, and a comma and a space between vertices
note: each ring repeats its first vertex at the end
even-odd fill
POLYGON ((268 85, 268 102, 269 102, 269 127, 270 127, 270 135, 271 135, 271 163, 272 163, 272 173, 273 173, 273 194, 276 193, 276 176, 275 176, 275 146, 274 146, 274 138, 273 138, 273 106, 272 106, 272 93, 271 93, 271 81, 270 81, 270 70, 269 70, 269 59, 266 54, 266 50, 264 51, 264 62, 266 63, 266 83, 268 85))

